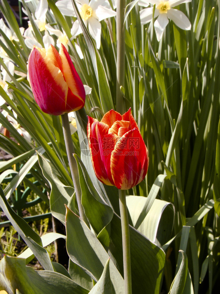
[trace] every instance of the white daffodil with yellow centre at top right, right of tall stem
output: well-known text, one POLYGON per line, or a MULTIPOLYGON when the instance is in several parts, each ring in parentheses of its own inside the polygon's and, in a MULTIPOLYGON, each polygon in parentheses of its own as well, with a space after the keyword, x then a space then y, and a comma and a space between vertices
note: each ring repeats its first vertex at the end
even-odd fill
MULTIPOLYGON (((167 26, 169 19, 171 19, 175 25, 183 30, 190 30, 191 24, 187 16, 182 11, 173 9, 172 7, 182 3, 191 2, 192 0, 148 0, 152 5, 155 4, 156 9, 154 17, 158 17, 154 22, 154 28, 158 41, 162 38, 163 31, 167 26)), ((145 2, 142 0, 142 2, 145 2)), ((141 4, 143 6, 143 4, 141 4)), ((153 16, 153 7, 144 8, 140 11, 141 24, 147 24, 151 21, 153 16)))

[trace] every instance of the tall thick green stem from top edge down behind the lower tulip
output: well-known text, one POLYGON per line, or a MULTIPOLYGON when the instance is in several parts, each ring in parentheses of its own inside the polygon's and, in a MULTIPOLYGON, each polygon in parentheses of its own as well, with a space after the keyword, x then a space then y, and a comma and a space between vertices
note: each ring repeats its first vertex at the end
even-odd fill
POLYGON ((124 88, 125 80, 125 28, 124 28, 125 0, 117 1, 116 34, 117 34, 117 69, 116 69, 116 110, 124 113, 125 105, 120 87, 124 88))

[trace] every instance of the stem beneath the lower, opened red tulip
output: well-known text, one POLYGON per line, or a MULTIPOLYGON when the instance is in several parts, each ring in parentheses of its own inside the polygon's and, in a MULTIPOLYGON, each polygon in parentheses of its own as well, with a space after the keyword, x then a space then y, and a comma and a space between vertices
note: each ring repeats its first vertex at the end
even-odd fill
POLYGON ((131 254, 130 254, 130 234, 128 223, 128 210, 126 206, 126 190, 119 190, 119 206, 121 214, 123 265, 125 294, 131 294, 131 254))

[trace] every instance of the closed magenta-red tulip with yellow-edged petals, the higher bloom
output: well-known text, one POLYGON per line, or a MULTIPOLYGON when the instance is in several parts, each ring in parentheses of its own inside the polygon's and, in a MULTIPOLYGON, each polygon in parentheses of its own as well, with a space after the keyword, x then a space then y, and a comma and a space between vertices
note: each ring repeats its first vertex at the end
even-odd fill
POLYGON ((28 58, 28 81, 34 98, 45 113, 60 115, 85 104, 85 90, 70 55, 61 44, 59 53, 36 46, 28 58))

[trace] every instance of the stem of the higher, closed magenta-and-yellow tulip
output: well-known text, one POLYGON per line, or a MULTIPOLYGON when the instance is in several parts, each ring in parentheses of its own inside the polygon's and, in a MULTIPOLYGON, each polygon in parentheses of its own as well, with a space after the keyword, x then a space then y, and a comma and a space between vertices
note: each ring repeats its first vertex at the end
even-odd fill
POLYGON ((73 142, 72 142, 68 113, 62 114, 61 118, 62 118, 64 141, 65 141, 65 146, 66 146, 66 151, 67 151, 67 158, 69 161, 70 172, 71 172, 72 181, 73 181, 73 185, 74 185, 74 189, 75 189, 75 193, 76 193, 76 200, 77 200, 78 209, 79 209, 79 216, 89 226, 88 219, 84 213, 84 209, 83 209, 83 206, 81 203, 82 192, 81 192, 80 183, 79 183, 79 172, 78 172, 77 162, 76 162, 75 158, 73 157, 73 153, 75 153, 75 151, 74 151, 74 146, 73 146, 73 142))

